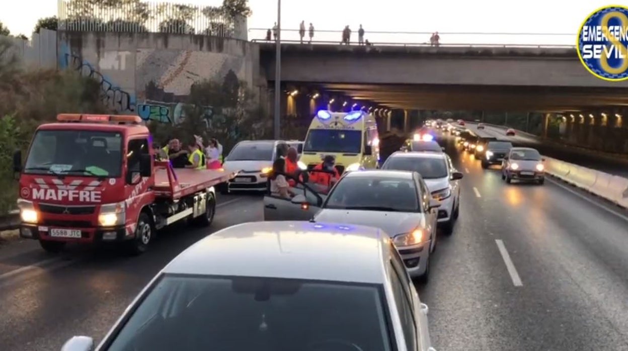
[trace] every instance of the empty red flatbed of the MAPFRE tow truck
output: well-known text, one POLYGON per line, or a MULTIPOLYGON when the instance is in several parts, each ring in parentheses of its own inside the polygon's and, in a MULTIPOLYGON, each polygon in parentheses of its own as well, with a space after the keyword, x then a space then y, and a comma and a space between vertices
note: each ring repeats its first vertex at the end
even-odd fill
POLYGON ((178 200, 199 190, 224 183, 237 174, 231 170, 193 170, 172 168, 168 161, 155 162, 154 193, 157 198, 178 200))

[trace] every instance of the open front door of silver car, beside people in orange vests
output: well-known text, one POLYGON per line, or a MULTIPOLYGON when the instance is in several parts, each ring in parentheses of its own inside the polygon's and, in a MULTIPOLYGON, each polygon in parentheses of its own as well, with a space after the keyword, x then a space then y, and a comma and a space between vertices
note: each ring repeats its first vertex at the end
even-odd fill
POLYGON ((296 195, 291 199, 268 192, 264 195, 264 220, 310 220, 320 210, 330 187, 296 180, 292 188, 296 195))

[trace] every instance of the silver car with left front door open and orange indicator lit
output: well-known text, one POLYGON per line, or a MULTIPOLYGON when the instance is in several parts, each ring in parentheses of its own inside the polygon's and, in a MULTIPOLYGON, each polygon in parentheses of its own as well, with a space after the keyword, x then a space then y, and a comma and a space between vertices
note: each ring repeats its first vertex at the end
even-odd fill
POLYGON ((303 220, 313 215, 317 222, 381 228, 391 235, 410 276, 425 282, 430 273, 430 254, 436 247, 438 207, 440 203, 431 198, 418 173, 368 170, 345 173, 328 195, 306 187, 303 195, 291 200, 264 198, 264 217, 303 220))

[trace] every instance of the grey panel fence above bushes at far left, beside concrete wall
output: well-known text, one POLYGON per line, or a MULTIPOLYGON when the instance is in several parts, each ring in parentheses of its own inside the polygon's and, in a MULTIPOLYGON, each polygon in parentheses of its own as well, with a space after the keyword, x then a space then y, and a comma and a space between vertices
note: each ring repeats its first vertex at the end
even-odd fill
POLYGON ((41 29, 31 40, 4 37, 13 47, 4 55, 15 55, 25 68, 57 68, 57 32, 41 29))

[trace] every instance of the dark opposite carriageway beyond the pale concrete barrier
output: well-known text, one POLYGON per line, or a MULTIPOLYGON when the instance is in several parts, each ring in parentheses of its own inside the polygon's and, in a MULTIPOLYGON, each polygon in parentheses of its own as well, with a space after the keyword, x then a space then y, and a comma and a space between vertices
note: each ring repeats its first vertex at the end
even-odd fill
POLYGON ((604 153, 594 153, 578 148, 560 146, 557 144, 543 143, 538 138, 519 134, 516 136, 506 136, 505 129, 499 127, 486 126, 485 129, 477 130, 477 124, 469 123, 466 126, 480 136, 495 136, 497 138, 511 141, 514 146, 524 146, 538 149, 541 154, 561 161, 573 163, 574 165, 591 168, 611 175, 628 178, 628 160, 619 159, 604 153))

